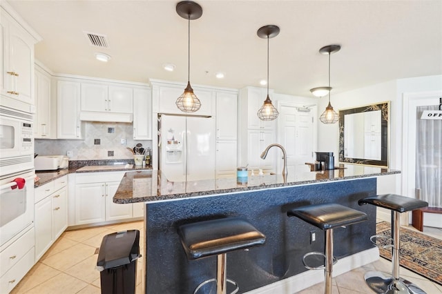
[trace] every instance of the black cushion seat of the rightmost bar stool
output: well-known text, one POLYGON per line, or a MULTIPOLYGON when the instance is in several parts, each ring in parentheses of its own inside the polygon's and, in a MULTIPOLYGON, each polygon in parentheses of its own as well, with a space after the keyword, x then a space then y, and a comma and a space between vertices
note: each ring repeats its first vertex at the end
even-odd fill
POLYGON ((382 208, 398 211, 399 213, 428 206, 428 202, 396 194, 367 197, 359 200, 358 204, 373 204, 382 208))

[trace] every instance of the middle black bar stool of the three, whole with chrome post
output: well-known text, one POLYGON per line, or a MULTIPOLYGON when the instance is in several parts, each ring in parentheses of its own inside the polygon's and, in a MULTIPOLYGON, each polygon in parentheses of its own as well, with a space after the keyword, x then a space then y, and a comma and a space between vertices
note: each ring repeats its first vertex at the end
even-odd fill
POLYGON ((307 253, 302 257, 302 262, 309 269, 325 269, 325 290, 324 293, 332 293, 332 271, 333 264, 337 262, 333 257, 333 229, 350 224, 358 224, 367 220, 367 215, 362 211, 348 208, 340 204, 313 204, 301 206, 287 211, 289 217, 300 219, 317 226, 325 231, 325 254, 319 252, 307 253), (305 257, 309 255, 323 255, 325 265, 320 267, 307 266, 305 257))

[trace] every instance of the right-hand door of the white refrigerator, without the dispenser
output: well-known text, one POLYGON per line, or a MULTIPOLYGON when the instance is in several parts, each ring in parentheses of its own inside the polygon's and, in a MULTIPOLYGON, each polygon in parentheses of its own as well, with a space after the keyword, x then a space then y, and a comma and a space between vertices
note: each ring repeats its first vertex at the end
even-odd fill
POLYGON ((186 117, 187 180, 215 179, 215 118, 186 117))

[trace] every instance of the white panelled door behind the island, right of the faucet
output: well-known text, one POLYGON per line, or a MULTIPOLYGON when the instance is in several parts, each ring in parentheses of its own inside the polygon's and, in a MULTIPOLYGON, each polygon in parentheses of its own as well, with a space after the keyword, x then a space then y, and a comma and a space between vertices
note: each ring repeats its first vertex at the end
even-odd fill
MULTIPOLYGON (((287 172, 289 175, 305 173, 310 170, 306 162, 314 163, 314 110, 298 111, 296 104, 278 103, 278 141, 287 153, 287 172)), ((278 170, 282 169, 278 160, 278 170)))

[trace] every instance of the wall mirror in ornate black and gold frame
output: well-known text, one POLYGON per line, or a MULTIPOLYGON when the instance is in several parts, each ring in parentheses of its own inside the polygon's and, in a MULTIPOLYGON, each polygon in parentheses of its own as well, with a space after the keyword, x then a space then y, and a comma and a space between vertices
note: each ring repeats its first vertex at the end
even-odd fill
POLYGON ((339 161, 388 167, 390 101, 339 110, 339 161))

